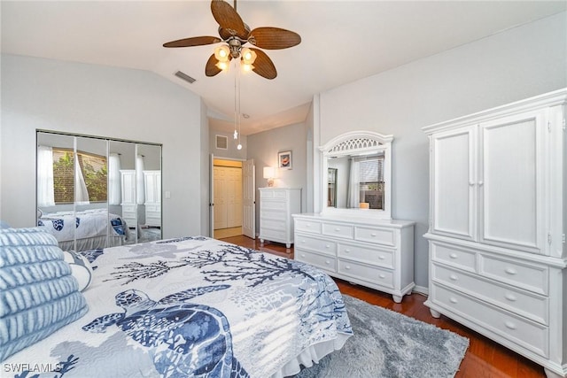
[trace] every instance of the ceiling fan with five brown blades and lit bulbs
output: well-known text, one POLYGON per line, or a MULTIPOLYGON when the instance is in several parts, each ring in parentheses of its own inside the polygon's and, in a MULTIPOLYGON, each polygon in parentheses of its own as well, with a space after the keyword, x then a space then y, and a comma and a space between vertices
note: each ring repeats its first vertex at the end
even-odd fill
POLYGON ((234 0, 234 8, 223 0, 213 0, 211 12, 219 24, 221 38, 197 36, 163 44, 163 47, 190 47, 226 43, 217 47, 214 54, 207 60, 206 76, 220 73, 228 67, 231 59, 240 58, 245 69, 252 70, 266 79, 274 79, 277 76, 276 66, 260 49, 287 49, 301 42, 301 37, 297 33, 279 27, 256 27, 251 30, 237 13, 237 0, 234 0), (260 49, 243 47, 245 43, 250 43, 260 49))

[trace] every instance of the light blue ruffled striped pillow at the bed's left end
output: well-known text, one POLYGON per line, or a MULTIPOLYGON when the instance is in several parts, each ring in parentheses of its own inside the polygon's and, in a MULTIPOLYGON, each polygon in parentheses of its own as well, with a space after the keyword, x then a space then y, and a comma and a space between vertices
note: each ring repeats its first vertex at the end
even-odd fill
POLYGON ((0 361, 88 309, 53 235, 39 228, 0 229, 0 361))

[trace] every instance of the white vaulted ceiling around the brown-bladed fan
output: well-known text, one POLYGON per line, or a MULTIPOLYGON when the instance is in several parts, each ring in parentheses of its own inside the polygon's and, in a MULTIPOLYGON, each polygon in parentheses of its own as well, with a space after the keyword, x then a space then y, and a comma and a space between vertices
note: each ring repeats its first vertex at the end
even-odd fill
MULTIPOLYGON (((229 2, 229 4, 233 4, 229 2)), ((565 1, 247 1, 254 27, 301 35, 266 50, 277 77, 240 79, 243 134, 306 119, 314 94, 565 11, 565 1)), ((206 77, 215 45, 165 49, 164 42, 218 35, 210 2, 2 1, 2 52, 148 70, 201 96, 210 125, 230 130, 234 70, 206 77), (175 77, 182 71, 196 81, 175 77)))

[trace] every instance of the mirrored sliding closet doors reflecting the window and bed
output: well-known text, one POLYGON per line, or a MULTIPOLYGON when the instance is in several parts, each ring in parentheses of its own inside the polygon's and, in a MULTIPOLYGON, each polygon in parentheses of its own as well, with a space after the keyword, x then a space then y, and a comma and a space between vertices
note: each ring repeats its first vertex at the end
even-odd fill
POLYGON ((63 250, 161 239, 159 144, 45 130, 36 139, 37 226, 63 250))

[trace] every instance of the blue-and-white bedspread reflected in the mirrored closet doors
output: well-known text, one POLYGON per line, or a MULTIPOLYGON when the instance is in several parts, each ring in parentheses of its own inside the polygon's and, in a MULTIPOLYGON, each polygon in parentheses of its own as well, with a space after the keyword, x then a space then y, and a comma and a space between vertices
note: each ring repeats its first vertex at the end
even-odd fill
MULTIPOLYGON (((37 226, 54 235, 58 242, 67 242, 95 236, 104 236, 112 228, 111 235, 127 235, 128 227, 119 215, 105 209, 82 212, 50 212, 37 220, 37 226)), ((127 235, 128 236, 128 235, 127 235)))

